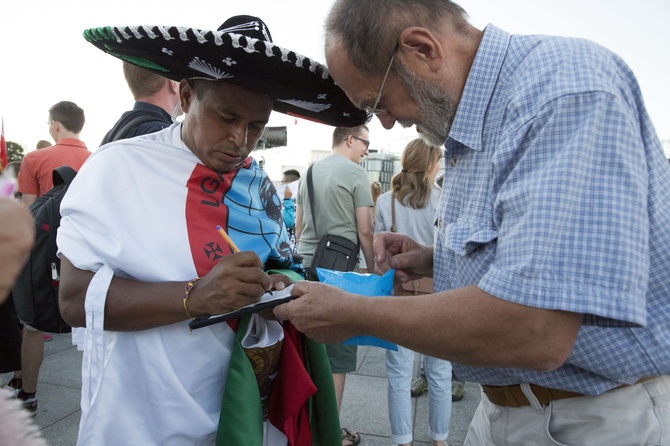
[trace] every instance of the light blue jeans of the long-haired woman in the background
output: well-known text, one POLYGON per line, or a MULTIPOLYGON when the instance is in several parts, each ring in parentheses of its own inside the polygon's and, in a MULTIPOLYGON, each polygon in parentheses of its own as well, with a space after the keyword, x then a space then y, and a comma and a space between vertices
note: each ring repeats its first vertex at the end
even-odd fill
MULTIPOLYGON (((386 351, 388 376, 389 421, 391 441, 396 444, 412 441, 412 368, 414 351, 398 346, 386 351)), ((451 419, 451 363, 423 356, 428 381, 428 427, 431 440, 446 440, 451 419)))

